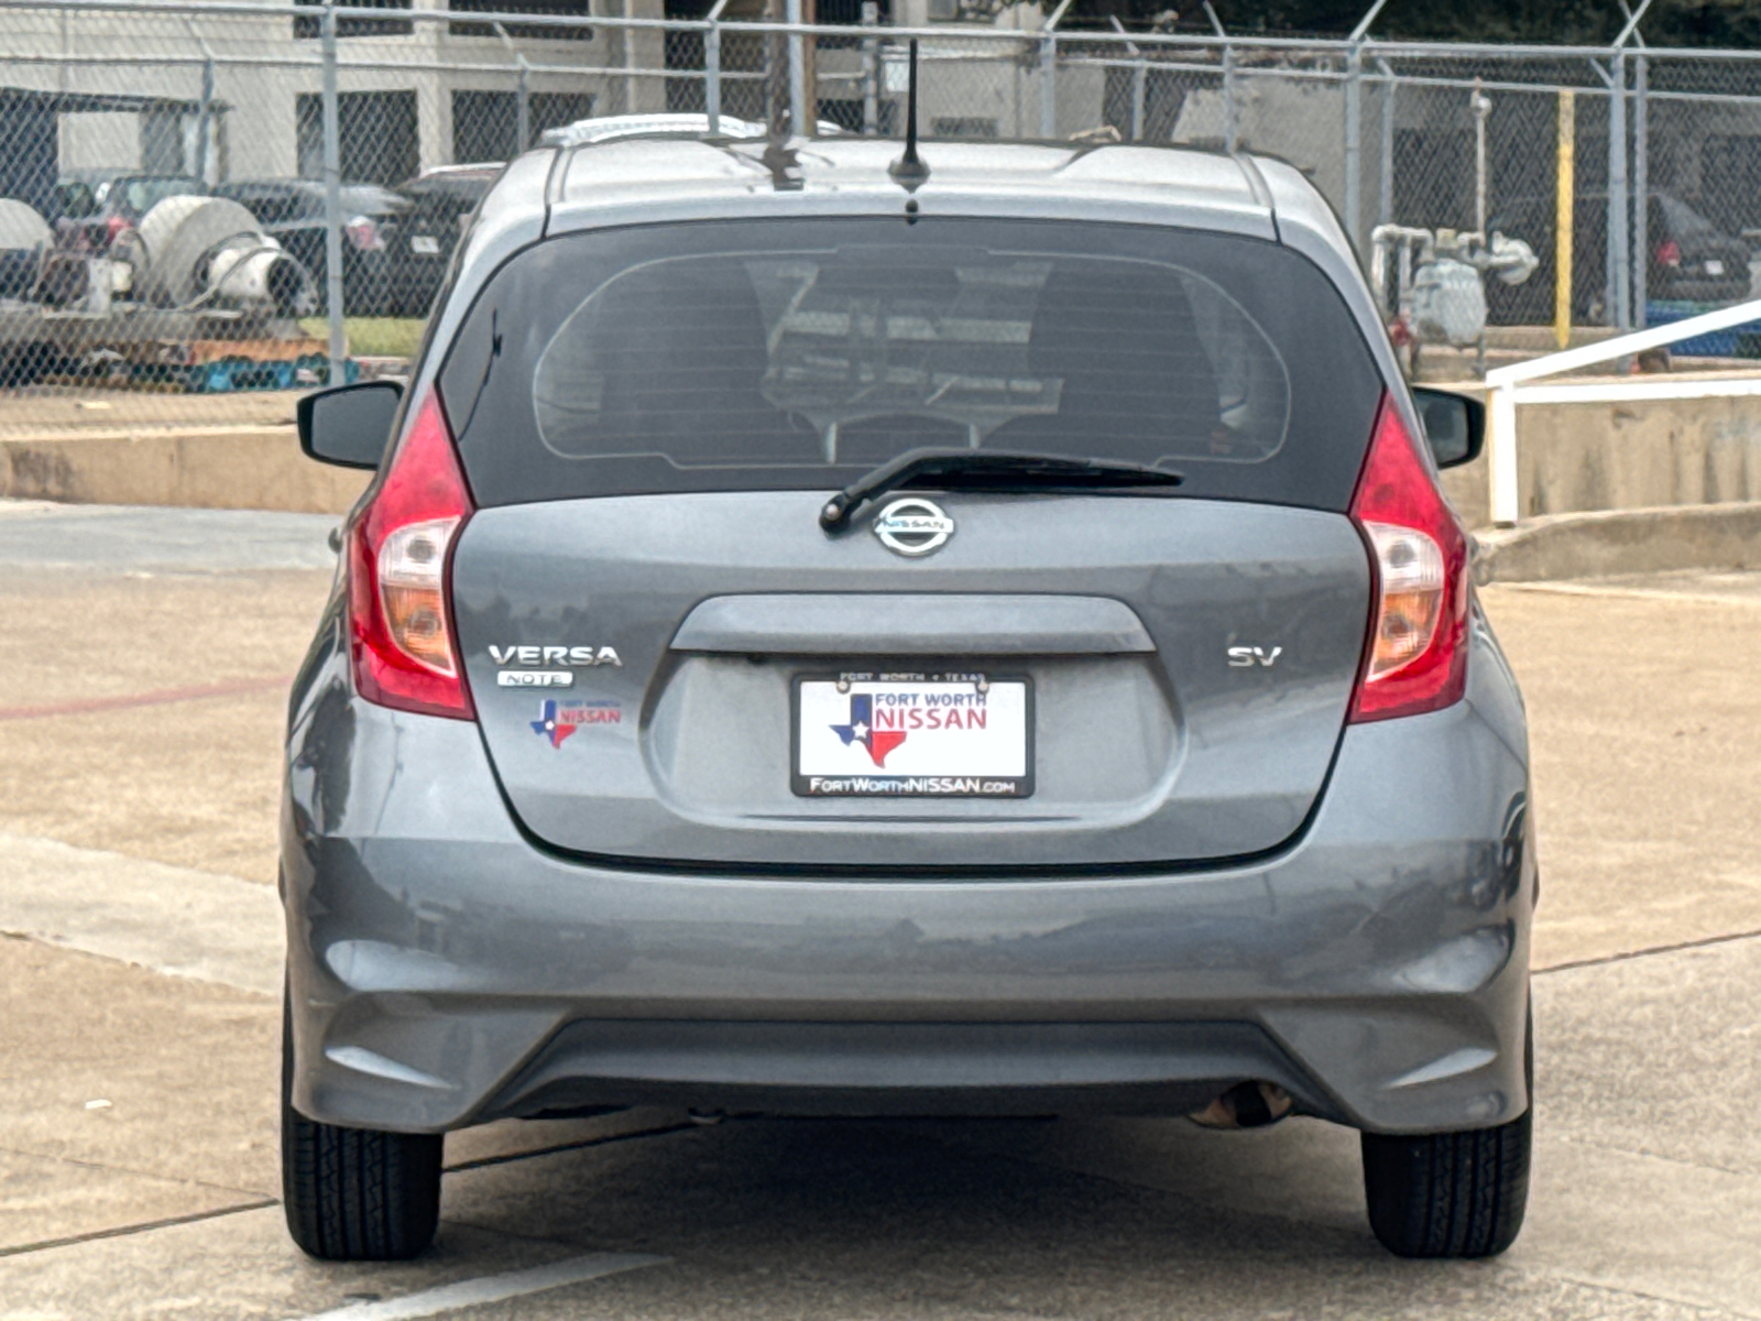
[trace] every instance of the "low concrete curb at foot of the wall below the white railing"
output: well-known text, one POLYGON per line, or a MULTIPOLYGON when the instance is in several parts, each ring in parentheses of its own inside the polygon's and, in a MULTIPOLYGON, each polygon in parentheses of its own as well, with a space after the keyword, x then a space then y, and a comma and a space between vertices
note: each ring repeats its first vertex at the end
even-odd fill
POLYGON ((1474 541, 1479 583, 1756 569, 1761 502, 1553 514, 1513 528, 1486 528, 1474 541))

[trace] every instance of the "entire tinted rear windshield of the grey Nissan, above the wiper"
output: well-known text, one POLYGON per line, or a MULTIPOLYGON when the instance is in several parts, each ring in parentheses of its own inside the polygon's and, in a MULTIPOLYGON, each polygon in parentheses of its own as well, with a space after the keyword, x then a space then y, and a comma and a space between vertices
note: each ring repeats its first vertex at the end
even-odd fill
POLYGON ((542 243, 479 296, 442 395, 490 506, 835 488, 940 446, 1344 509, 1381 379, 1333 285, 1273 243, 828 218, 542 243))

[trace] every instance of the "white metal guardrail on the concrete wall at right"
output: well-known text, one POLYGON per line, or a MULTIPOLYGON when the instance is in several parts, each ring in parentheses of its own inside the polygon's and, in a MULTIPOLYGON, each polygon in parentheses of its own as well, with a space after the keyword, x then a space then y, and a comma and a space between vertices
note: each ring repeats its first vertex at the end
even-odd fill
POLYGON ((1595 366, 1617 358, 1639 354, 1647 349, 1664 349, 1696 335, 1731 329, 1761 321, 1761 299, 1722 306, 1668 326, 1618 335, 1581 349, 1566 349, 1527 363, 1511 363, 1486 372, 1486 472, 1492 486, 1492 521, 1514 527, 1522 514, 1522 491, 1516 472, 1516 405, 1518 403, 1625 403, 1631 400, 1710 400, 1738 395, 1761 395, 1761 365, 1750 377, 1694 379, 1655 375, 1643 380, 1587 380, 1530 384, 1543 377, 1595 366))

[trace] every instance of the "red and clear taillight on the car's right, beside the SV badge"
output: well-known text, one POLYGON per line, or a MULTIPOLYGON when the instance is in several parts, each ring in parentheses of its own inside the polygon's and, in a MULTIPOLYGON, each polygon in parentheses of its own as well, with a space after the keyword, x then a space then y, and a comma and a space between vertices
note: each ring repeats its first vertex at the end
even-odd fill
POLYGON ((1375 615, 1351 719, 1388 720, 1460 701, 1467 687, 1467 535, 1388 396, 1351 516, 1375 574, 1375 615))

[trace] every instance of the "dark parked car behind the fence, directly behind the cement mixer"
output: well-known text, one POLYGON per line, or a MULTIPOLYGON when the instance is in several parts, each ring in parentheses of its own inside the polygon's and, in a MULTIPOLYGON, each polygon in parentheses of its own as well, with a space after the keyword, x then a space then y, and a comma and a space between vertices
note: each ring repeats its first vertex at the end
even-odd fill
MULTIPOLYGON (((215 188, 262 224, 310 273, 326 306, 324 185, 319 180, 239 180, 215 188)), ((377 183, 342 187, 342 305, 354 317, 394 315, 396 245, 410 203, 377 183)))

